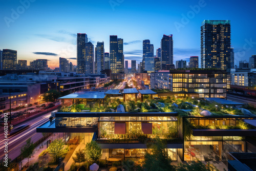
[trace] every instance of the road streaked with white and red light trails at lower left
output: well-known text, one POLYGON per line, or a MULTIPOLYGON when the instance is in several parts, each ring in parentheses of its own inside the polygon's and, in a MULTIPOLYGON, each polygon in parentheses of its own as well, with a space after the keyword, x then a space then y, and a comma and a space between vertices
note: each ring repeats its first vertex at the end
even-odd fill
MULTIPOLYGON (((39 125, 41 125, 42 123, 45 123, 47 120, 49 120, 49 117, 51 115, 51 112, 44 114, 44 115, 40 115, 34 119, 31 119, 27 122, 23 122, 21 124, 15 125, 19 126, 19 125, 23 125, 23 124, 29 124, 30 126, 15 135, 12 135, 10 137, 8 137, 9 141, 8 141, 8 157, 10 159, 15 159, 16 157, 18 157, 20 155, 20 148, 26 144, 26 140, 29 139, 31 137, 31 141, 36 142, 38 141, 41 137, 42 134, 41 133, 36 133, 36 127, 38 127, 39 125)), ((1 130, 3 132, 3 130, 1 130)), ((0 133, 0 159, 2 159, 5 155, 4 153, 4 133, 0 133)))

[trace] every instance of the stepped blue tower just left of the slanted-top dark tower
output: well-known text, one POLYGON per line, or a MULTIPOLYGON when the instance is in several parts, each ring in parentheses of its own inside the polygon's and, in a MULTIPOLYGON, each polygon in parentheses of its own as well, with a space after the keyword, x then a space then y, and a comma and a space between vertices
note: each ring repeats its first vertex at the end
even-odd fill
POLYGON ((154 45, 150 44, 150 40, 143 40, 142 65, 143 72, 155 71, 154 45))

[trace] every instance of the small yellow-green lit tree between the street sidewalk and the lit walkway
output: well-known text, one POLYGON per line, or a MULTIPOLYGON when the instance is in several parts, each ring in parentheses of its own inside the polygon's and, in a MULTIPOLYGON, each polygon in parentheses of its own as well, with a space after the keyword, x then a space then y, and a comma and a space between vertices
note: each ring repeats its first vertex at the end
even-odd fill
POLYGON ((64 153, 63 148, 64 143, 61 139, 56 139, 49 145, 48 153, 53 157, 55 162, 57 162, 58 158, 64 153))

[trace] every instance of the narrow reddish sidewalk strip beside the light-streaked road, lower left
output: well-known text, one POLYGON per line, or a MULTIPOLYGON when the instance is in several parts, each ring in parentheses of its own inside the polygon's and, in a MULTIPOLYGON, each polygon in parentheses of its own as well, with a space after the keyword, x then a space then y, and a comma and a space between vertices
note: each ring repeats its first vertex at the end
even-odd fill
MULTIPOLYGON (((42 152, 42 151, 44 151, 45 149, 46 149, 46 146, 47 146, 47 141, 49 140, 49 139, 52 139, 52 141, 53 140, 55 140, 55 139, 57 139, 57 138, 59 138, 59 136, 58 136, 58 133, 53 133, 51 136, 49 136, 43 143, 40 143, 39 145, 37 145, 36 147, 35 147, 35 149, 34 149, 34 151, 33 151, 33 154, 32 154, 32 156, 31 156, 31 158, 29 159, 29 165, 33 165, 34 163, 36 163, 37 161, 38 161, 38 156, 39 156, 39 154, 42 152), (43 147, 42 148, 40 148, 40 146, 41 145, 43 145, 43 147)), ((28 163, 28 158, 25 158, 25 159, 23 159, 22 160, 22 166, 24 166, 24 165, 26 165, 28 163)), ((18 163, 19 164, 19 169, 21 169, 22 167, 21 167, 21 163, 18 163)))

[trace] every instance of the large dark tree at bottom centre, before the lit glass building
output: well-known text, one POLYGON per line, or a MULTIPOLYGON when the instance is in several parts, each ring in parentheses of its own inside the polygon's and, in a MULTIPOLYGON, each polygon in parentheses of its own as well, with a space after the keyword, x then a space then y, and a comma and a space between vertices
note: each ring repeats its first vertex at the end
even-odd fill
POLYGON ((152 148, 152 153, 145 154, 143 166, 147 171, 175 170, 170 165, 172 159, 168 156, 165 142, 158 138, 152 145, 147 144, 147 147, 152 148))

